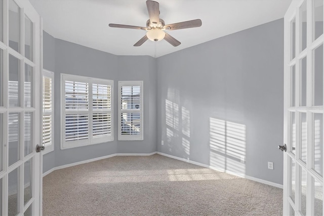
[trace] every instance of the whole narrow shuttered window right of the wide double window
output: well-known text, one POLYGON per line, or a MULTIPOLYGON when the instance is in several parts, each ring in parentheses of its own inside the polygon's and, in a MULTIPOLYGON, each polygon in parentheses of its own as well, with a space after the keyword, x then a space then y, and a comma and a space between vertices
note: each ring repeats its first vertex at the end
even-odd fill
POLYGON ((118 139, 143 140, 143 81, 118 82, 118 139))

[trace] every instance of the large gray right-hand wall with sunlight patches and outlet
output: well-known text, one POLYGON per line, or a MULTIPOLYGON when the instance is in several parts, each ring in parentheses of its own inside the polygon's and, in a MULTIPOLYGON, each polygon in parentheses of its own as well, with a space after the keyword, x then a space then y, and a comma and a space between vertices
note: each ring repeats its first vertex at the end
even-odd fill
POLYGON ((157 151, 282 184, 283 59, 283 19, 159 57, 157 151))

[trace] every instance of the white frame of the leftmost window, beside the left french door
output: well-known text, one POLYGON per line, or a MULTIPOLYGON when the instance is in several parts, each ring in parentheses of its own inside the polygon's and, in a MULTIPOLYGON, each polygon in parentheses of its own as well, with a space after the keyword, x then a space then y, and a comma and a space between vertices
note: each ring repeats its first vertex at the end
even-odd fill
MULTIPOLYGON (((51 143, 50 143, 49 146, 45 147, 44 151, 42 151, 42 154, 45 155, 47 153, 50 153, 50 152, 54 151, 54 119, 55 119, 55 116, 54 116, 54 73, 52 71, 43 69, 42 86, 43 86, 43 88, 42 88, 42 101, 43 101, 43 103, 42 103, 42 128, 43 128, 43 116, 44 115, 51 115, 51 117, 52 117, 51 143), (43 99, 44 99, 44 96, 43 96, 43 94, 44 94, 44 86, 43 86, 44 77, 48 77, 52 81, 52 89, 51 89, 51 91, 52 91, 52 96, 51 96, 52 110, 48 111, 48 112, 44 111, 44 106, 43 106, 44 105, 44 101, 43 101, 43 99)), ((42 129, 42 131, 43 131, 43 129, 42 129)), ((43 143, 43 138, 42 138, 42 143, 43 143)), ((43 145, 44 145, 44 143, 43 143, 43 145)))

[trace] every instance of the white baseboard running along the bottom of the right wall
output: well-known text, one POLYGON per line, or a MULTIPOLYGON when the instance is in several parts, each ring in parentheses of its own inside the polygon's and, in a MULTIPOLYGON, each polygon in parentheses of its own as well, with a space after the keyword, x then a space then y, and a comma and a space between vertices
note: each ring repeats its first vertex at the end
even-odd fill
POLYGON ((191 161, 191 160, 188 160, 188 159, 179 158, 179 157, 176 157, 176 156, 173 156, 173 155, 168 155, 168 154, 161 153, 161 152, 157 152, 156 154, 163 155, 163 156, 173 158, 173 159, 177 159, 177 160, 180 160, 180 161, 184 161, 184 162, 187 162, 187 163, 191 163, 191 164, 194 164, 194 165, 210 168, 210 169, 213 169, 213 170, 216 170, 216 171, 225 172, 225 173, 235 175, 235 176, 239 176, 239 177, 242 177, 242 178, 247 178, 247 179, 250 179, 252 181, 259 182, 259 183, 266 184, 266 185, 270 185, 270 186, 273 186, 273 187, 276 187, 276 188, 281 188, 282 189, 284 187, 284 186, 282 186, 280 184, 269 182, 269 181, 266 181, 266 180, 263 180, 263 179, 260 179, 260 178, 252 177, 252 176, 249 176, 249 175, 246 175, 246 174, 237 173, 237 172, 233 172, 233 171, 229 171, 229 170, 220 169, 220 168, 217 168, 215 166, 210 166, 210 165, 206 165, 206 164, 203 164, 203 163, 198 163, 198 162, 191 161))

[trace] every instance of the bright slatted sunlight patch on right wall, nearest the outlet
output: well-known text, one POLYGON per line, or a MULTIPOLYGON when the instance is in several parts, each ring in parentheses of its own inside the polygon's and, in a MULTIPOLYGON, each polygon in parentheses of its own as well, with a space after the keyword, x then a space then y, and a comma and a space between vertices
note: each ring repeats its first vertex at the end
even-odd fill
POLYGON ((246 125, 216 118, 210 124, 210 165, 222 171, 245 173, 246 125))

